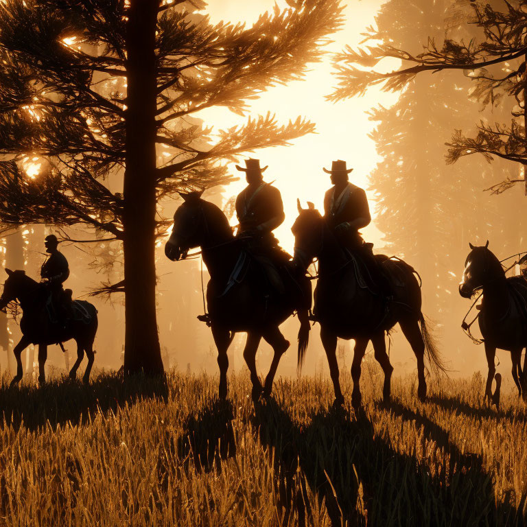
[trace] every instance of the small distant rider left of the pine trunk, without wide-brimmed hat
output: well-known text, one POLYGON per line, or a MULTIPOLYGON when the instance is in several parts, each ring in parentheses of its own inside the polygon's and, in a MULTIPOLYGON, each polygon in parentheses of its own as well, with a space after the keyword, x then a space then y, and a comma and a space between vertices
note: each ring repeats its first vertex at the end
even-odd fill
POLYGON ((58 250, 58 239, 54 234, 45 237, 44 245, 49 257, 40 268, 40 277, 51 294, 51 306, 57 318, 52 321, 64 323, 71 318, 71 289, 62 288, 62 283, 69 277, 68 261, 58 250))

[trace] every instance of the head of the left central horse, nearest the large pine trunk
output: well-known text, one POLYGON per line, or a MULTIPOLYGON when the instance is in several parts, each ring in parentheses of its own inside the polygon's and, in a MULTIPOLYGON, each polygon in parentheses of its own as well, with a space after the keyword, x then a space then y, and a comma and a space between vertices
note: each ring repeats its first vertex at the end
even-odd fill
POLYGON ((180 193, 183 204, 174 214, 172 234, 165 244, 165 255, 172 261, 185 258, 195 247, 207 247, 232 231, 224 213, 215 204, 202 200, 203 191, 180 193))

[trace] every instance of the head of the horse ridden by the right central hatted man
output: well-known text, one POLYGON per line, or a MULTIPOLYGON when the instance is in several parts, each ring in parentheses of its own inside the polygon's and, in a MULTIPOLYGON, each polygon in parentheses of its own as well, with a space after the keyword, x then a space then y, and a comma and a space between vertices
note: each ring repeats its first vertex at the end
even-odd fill
POLYGON ((291 227, 294 235, 293 261, 307 269, 322 249, 324 219, 311 202, 307 202, 307 209, 301 207, 300 200, 296 200, 296 204, 298 218, 291 227))

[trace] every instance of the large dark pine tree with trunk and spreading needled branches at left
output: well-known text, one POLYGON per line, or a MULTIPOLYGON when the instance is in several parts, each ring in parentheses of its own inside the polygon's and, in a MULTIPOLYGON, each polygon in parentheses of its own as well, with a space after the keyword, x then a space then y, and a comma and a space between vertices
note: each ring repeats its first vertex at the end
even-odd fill
POLYGON ((126 293, 127 372, 163 371, 154 259, 167 226, 160 200, 229 180, 222 159, 314 130, 300 117, 280 126, 268 114, 215 136, 185 117, 211 106, 244 114, 248 99, 302 78, 340 25, 338 0, 291 0, 252 27, 213 25, 196 12, 204 5, 0 3, 0 155, 12 156, 0 165, 0 222, 80 223, 122 242, 124 282, 110 290, 126 293), (19 159, 28 153, 45 159, 49 172, 25 177, 19 159))

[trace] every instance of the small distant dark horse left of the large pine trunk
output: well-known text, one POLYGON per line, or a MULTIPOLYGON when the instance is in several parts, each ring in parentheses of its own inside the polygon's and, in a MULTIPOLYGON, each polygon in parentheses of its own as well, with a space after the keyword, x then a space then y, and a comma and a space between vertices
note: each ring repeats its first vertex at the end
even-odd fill
POLYGON ((49 293, 42 283, 25 274, 23 270, 12 271, 5 269, 8 279, 3 284, 0 296, 0 309, 5 309, 8 303, 18 300, 22 308, 20 329, 22 338, 13 349, 16 358, 16 376, 11 385, 18 384, 23 377, 21 355, 30 344, 38 344, 38 382, 45 383, 44 366, 47 359, 47 347, 50 344, 62 344, 70 339, 77 342, 77 360, 69 377, 75 379, 77 370, 84 357, 88 356, 88 364, 84 371, 83 380, 89 382, 91 367, 95 358, 93 341, 97 333, 97 309, 86 301, 74 301, 72 304, 73 318, 65 320, 63 324, 50 320, 47 309, 49 293))

